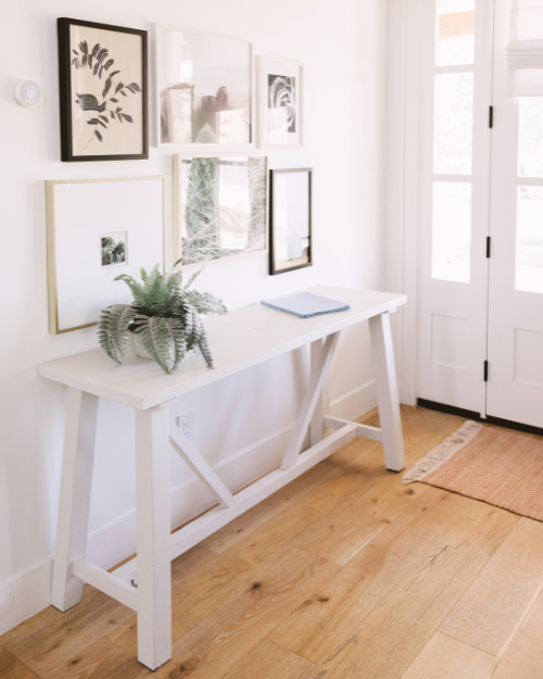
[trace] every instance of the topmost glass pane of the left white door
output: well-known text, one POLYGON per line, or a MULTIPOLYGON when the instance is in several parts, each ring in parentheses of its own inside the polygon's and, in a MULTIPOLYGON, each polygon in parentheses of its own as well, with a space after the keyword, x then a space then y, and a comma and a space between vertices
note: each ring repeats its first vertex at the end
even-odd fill
POLYGON ((472 64, 475 0, 438 0, 435 60, 439 66, 472 64))

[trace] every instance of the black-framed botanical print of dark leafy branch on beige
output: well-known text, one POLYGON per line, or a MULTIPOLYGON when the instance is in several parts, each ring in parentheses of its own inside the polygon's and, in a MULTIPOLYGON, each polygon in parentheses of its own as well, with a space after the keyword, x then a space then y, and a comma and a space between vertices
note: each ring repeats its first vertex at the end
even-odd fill
POLYGON ((149 158, 147 30, 59 18, 61 158, 149 158))

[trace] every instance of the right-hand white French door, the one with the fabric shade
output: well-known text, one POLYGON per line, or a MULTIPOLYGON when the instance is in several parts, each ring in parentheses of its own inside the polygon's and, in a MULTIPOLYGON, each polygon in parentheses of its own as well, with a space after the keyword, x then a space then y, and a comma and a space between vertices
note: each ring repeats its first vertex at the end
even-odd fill
POLYGON ((507 97, 508 9, 496 0, 487 412, 543 427, 543 98, 507 97))

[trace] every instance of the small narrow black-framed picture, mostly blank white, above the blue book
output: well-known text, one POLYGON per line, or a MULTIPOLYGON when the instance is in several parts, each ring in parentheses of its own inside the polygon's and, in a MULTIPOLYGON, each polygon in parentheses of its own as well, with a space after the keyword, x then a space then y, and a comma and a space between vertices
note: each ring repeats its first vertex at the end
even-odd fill
POLYGON ((312 266, 312 171, 272 169, 269 275, 312 266))

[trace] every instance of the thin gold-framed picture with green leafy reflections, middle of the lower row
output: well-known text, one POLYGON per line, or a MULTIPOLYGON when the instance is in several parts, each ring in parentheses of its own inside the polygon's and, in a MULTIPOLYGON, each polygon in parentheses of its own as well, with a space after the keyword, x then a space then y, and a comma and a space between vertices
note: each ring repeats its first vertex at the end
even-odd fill
POLYGON ((266 251, 267 158, 176 155, 174 256, 181 266, 266 251))

